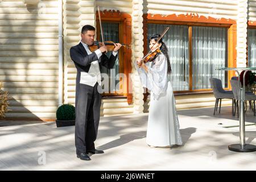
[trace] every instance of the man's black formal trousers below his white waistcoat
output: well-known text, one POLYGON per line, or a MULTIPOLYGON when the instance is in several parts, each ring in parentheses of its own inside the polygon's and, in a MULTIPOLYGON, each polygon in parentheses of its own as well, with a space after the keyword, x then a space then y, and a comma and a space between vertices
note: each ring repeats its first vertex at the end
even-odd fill
POLYGON ((101 94, 98 93, 98 83, 94 86, 79 85, 76 99, 76 152, 94 150, 100 122, 101 94))

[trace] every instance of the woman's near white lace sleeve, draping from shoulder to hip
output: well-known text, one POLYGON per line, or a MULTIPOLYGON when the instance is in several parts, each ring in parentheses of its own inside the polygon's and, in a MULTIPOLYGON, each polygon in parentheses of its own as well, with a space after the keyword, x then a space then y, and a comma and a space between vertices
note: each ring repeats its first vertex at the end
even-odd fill
POLYGON ((151 94, 153 94, 154 98, 158 98, 160 94, 166 92, 167 90, 167 69, 167 59, 163 53, 156 57, 152 67, 148 68, 148 78, 151 85, 151 94))

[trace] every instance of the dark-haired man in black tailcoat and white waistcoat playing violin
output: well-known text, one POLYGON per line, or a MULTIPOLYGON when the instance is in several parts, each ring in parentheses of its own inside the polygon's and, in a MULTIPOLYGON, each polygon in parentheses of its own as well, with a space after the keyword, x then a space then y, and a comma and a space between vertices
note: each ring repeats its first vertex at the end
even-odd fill
POLYGON ((104 151, 96 150, 94 141, 97 138, 100 122, 102 65, 112 69, 117 59, 117 51, 122 46, 114 43, 113 53, 110 57, 106 46, 90 51, 94 44, 95 28, 90 25, 82 27, 81 42, 70 49, 70 56, 77 69, 76 76, 76 126, 75 145, 77 158, 90 160, 89 153, 102 154, 104 151))

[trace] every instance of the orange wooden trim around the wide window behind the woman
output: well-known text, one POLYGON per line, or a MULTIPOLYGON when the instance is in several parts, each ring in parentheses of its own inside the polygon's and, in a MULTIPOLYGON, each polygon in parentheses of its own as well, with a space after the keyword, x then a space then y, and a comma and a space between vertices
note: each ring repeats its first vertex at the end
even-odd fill
MULTIPOLYGON (((212 89, 200 89, 192 90, 192 26, 213 26, 213 27, 227 27, 228 28, 228 67, 236 67, 236 44, 237 44, 237 26, 236 20, 233 19, 216 19, 212 17, 199 16, 195 14, 171 14, 167 16, 163 15, 143 15, 143 42, 144 42, 144 54, 147 52, 147 23, 159 23, 159 24, 174 24, 174 25, 186 25, 189 28, 189 90, 175 91, 174 93, 199 93, 209 92, 212 89)), ((255 23, 256 25, 256 23, 255 23)), ((232 76, 236 76, 234 71, 228 72, 228 80, 231 80, 232 76)), ((230 82, 228 81, 228 88, 231 89, 230 82)))

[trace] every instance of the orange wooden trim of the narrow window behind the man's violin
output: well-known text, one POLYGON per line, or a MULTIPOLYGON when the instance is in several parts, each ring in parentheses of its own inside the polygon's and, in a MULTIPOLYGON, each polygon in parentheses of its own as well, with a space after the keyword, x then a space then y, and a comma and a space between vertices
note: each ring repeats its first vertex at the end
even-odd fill
MULTIPOLYGON (((121 13, 120 11, 115 10, 104 10, 100 11, 101 20, 104 22, 113 22, 119 24, 119 41, 120 43, 130 45, 131 44, 131 15, 126 13, 121 13)), ((98 18, 98 11, 96 11, 96 28, 97 28, 97 40, 100 40, 100 22, 98 18)), ((129 88, 131 85, 131 80, 129 78, 129 73, 131 73, 131 49, 121 48, 119 53, 120 61, 119 73, 124 73, 127 76, 127 79, 123 81, 122 84, 122 93, 108 94, 108 98, 117 98, 117 96, 127 97, 128 104, 132 103, 133 95, 129 93, 129 88), (126 60, 126 63, 124 61, 126 60), (129 84, 130 83, 130 84, 129 84)), ((120 80, 120 83, 122 80, 120 80)), ((131 90, 131 89, 130 89, 131 90)))

